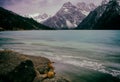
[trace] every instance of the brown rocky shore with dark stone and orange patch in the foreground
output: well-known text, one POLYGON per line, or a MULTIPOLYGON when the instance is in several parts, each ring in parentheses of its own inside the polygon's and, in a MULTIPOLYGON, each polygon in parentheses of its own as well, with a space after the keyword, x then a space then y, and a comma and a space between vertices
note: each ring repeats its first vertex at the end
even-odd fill
POLYGON ((56 76, 53 63, 44 57, 1 50, 0 82, 70 82, 56 76))

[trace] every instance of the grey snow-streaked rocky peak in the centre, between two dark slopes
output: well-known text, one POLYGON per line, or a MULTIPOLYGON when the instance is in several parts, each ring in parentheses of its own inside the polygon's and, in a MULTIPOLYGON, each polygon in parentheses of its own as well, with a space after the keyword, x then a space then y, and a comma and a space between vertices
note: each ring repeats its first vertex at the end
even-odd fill
POLYGON ((77 6, 74 6, 71 2, 67 2, 53 17, 43 22, 43 24, 55 29, 74 29, 93 7, 95 7, 93 4, 88 6, 85 3, 78 3, 77 6))

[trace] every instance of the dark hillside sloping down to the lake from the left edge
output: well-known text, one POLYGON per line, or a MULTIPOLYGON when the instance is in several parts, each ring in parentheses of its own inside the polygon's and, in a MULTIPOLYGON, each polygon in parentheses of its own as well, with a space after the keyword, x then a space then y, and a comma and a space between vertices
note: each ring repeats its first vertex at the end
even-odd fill
POLYGON ((40 30, 51 29, 32 18, 25 18, 0 7, 0 30, 40 30))

